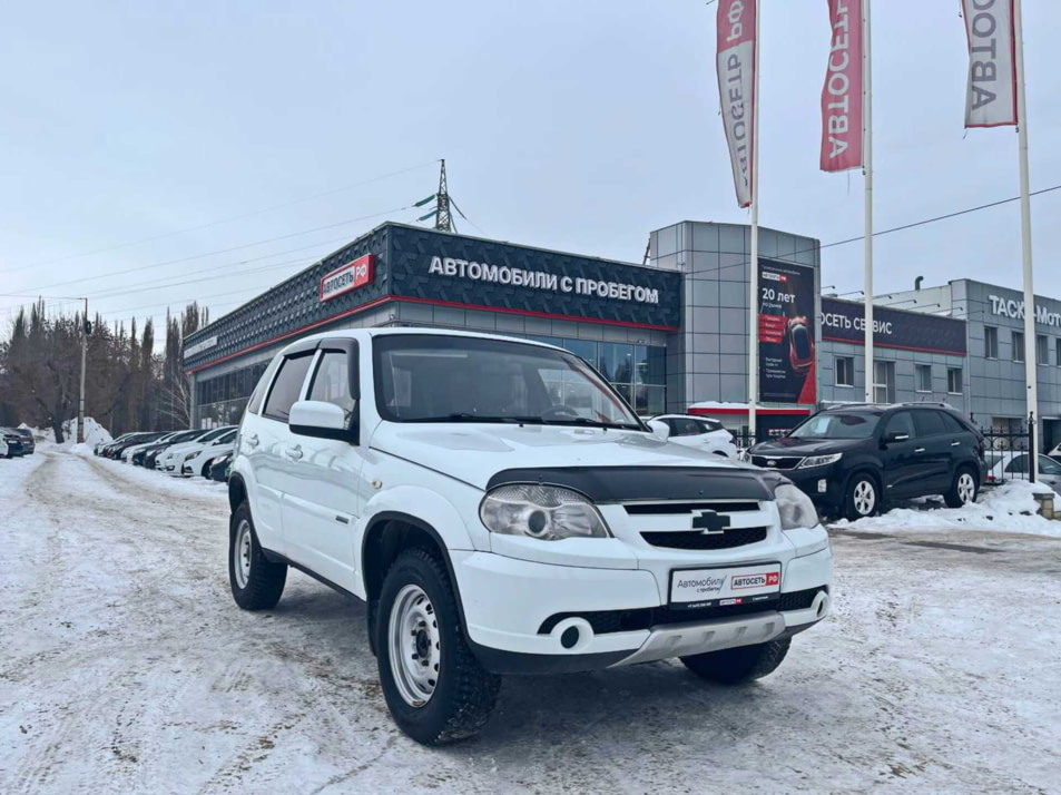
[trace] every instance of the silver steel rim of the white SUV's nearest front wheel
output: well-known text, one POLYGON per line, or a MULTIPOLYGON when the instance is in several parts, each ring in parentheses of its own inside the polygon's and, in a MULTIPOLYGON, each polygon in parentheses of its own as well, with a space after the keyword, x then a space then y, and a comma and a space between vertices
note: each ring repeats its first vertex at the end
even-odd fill
POLYGON ((422 707, 439 684, 442 638, 434 605, 420 586, 397 592, 387 626, 391 675, 402 700, 422 707))

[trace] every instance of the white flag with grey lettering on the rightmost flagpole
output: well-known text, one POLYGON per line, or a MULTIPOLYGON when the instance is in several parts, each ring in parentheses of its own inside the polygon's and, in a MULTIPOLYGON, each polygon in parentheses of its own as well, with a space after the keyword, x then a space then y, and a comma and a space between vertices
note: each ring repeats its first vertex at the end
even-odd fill
POLYGON ((1013 0, 962 0, 969 39, 966 127, 1016 124, 1013 0))

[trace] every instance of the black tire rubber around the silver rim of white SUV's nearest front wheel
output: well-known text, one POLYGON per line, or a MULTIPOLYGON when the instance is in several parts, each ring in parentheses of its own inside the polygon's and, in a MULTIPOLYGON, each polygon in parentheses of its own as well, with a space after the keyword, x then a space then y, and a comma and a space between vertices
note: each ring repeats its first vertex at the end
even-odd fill
MULTIPOLYGON (((487 725, 501 689, 501 677, 490 674, 472 656, 461 632, 460 610, 445 567, 424 549, 402 552, 383 580, 375 624, 380 684, 394 722, 423 745, 444 745, 472 737, 487 725), (422 590, 432 609, 439 641, 439 676, 420 706, 402 696, 391 659, 391 614, 407 587, 422 590)), ((404 637, 403 632, 400 632, 404 637)), ((429 657, 429 659, 431 659, 429 657)))

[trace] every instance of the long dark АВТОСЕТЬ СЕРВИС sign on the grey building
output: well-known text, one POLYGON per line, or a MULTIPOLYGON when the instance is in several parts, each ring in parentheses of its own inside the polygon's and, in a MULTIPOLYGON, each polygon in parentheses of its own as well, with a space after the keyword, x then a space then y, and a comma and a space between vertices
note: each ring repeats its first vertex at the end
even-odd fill
MULTIPOLYGON (((822 298, 822 338, 865 344, 862 302, 822 298)), ((873 344, 901 351, 965 355, 965 321, 920 312, 873 307, 873 344)))

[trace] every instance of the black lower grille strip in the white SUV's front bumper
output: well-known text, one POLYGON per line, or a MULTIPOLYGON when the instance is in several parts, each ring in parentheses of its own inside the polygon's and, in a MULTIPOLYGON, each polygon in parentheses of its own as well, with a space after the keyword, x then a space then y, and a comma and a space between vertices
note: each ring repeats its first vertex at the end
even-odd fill
POLYGON ((590 612, 558 612, 542 621, 538 628, 539 635, 549 635, 552 628, 566 618, 583 618, 593 628, 597 635, 609 632, 630 632, 638 629, 651 629, 671 624, 696 624, 717 618, 733 618, 756 612, 777 610, 807 610, 814 603, 818 591, 828 592, 828 588, 808 588, 802 591, 782 593, 779 599, 749 605, 721 605, 718 607, 701 607, 691 610, 676 609, 670 606, 646 607, 637 610, 595 610, 590 612))

